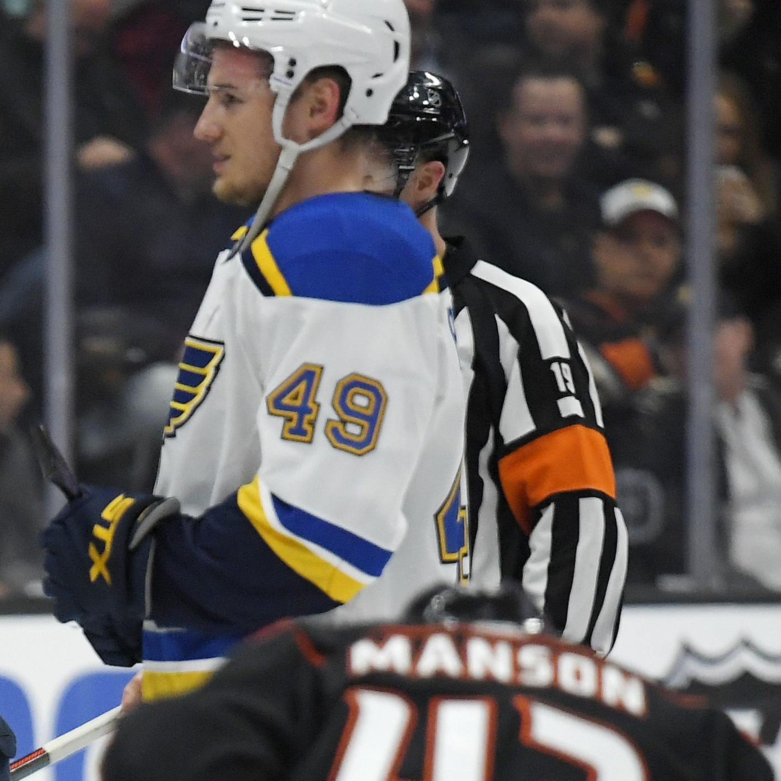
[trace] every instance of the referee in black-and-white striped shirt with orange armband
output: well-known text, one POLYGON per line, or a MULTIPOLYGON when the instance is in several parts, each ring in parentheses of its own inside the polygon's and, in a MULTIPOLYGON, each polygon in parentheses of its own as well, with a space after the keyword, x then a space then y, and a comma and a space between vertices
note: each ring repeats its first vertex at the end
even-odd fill
POLYGON ((469 154, 465 113, 448 80, 412 73, 381 139, 391 159, 376 158, 370 188, 419 215, 454 300, 468 394, 473 582, 519 580, 565 640, 606 654, 628 540, 587 359, 564 313, 537 287, 478 259, 464 238, 440 236, 437 205, 469 154))

